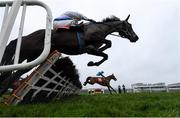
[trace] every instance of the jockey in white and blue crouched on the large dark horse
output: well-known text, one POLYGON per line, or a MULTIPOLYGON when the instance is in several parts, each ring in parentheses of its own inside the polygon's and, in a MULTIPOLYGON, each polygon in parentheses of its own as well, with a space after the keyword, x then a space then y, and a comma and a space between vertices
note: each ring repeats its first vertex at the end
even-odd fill
POLYGON ((68 11, 57 17, 53 21, 53 29, 70 29, 71 27, 79 27, 83 22, 78 23, 78 21, 86 20, 90 22, 95 22, 92 19, 88 19, 80 13, 68 11))

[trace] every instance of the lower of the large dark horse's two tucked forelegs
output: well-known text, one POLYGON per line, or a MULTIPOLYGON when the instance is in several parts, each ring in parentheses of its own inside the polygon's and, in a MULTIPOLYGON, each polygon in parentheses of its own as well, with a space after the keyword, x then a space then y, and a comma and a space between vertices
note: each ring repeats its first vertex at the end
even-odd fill
POLYGON ((87 48, 86 48, 86 52, 88 54, 92 54, 92 55, 96 55, 96 56, 101 56, 103 57, 102 60, 100 60, 99 62, 92 62, 90 61, 88 63, 88 66, 99 66, 100 64, 102 64, 104 61, 106 61, 108 59, 108 55, 105 54, 104 52, 102 51, 99 51, 98 49, 96 49, 94 46, 92 45, 89 45, 87 48))

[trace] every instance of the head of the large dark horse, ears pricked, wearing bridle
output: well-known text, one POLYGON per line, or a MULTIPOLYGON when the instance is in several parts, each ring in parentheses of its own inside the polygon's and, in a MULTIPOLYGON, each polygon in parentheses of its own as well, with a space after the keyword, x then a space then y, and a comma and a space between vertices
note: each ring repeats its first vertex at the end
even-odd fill
POLYGON ((126 20, 122 21, 120 25, 117 26, 117 30, 119 35, 123 38, 128 38, 131 42, 136 42, 139 37, 132 29, 132 25, 128 23, 130 15, 126 18, 126 20))

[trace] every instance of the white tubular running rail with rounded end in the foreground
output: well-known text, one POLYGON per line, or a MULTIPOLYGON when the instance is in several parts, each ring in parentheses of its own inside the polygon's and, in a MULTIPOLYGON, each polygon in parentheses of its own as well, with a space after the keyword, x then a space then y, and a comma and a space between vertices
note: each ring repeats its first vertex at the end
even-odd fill
POLYGON ((2 60, 2 57, 4 54, 11 30, 12 30, 12 27, 14 25, 16 16, 18 14, 19 8, 21 6, 23 6, 23 11, 22 11, 21 23, 20 23, 20 28, 19 28, 19 35, 18 35, 18 41, 17 41, 17 46, 16 46, 14 64, 0 66, 0 72, 33 68, 37 66, 38 64, 42 63, 47 58, 50 52, 51 27, 52 27, 52 12, 50 8, 45 3, 40 2, 38 0, 15 0, 14 2, 13 1, 0 1, 0 7, 5 7, 4 19, 3 19, 1 32, 0 32, 0 62, 2 60), (35 6, 35 5, 43 7, 47 12, 44 49, 41 55, 37 59, 31 62, 19 64, 18 60, 19 60, 19 52, 20 52, 20 47, 21 47, 20 43, 21 43, 24 20, 25 20, 26 6, 35 6), (10 6, 12 7, 11 7, 11 10, 9 11, 10 6))

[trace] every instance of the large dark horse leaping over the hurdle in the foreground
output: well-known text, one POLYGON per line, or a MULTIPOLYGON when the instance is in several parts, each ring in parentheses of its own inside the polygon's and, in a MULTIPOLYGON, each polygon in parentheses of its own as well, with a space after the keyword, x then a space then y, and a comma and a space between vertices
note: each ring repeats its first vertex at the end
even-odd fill
MULTIPOLYGON (((133 31, 131 24, 128 22, 130 15, 125 20, 120 20, 116 16, 107 17, 101 22, 89 23, 83 25, 83 31, 74 30, 52 30, 51 50, 57 50, 67 55, 91 54, 103 57, 98 62, 90 61, 88 66, 99 66, 108 59, 108 55, 103 51, 111 47, 111 41, 105 39, 107 35, 118 32, 122 38, 127 38, 130 42, 136 42, 138 36, 133 31)), ((45 29, 35 31, 27 36, 22 37, 19 63, 36 59, 44 48, 45 29)), ((14 52, 16 49, 17 39, 12 40, 5 49, 1 65, 13 63, 14 52)), ((21 75, 31 69, 18 70, 16 72, 1 72, 0 74, 0 95, 8 87, 20 78, 21 75)))

